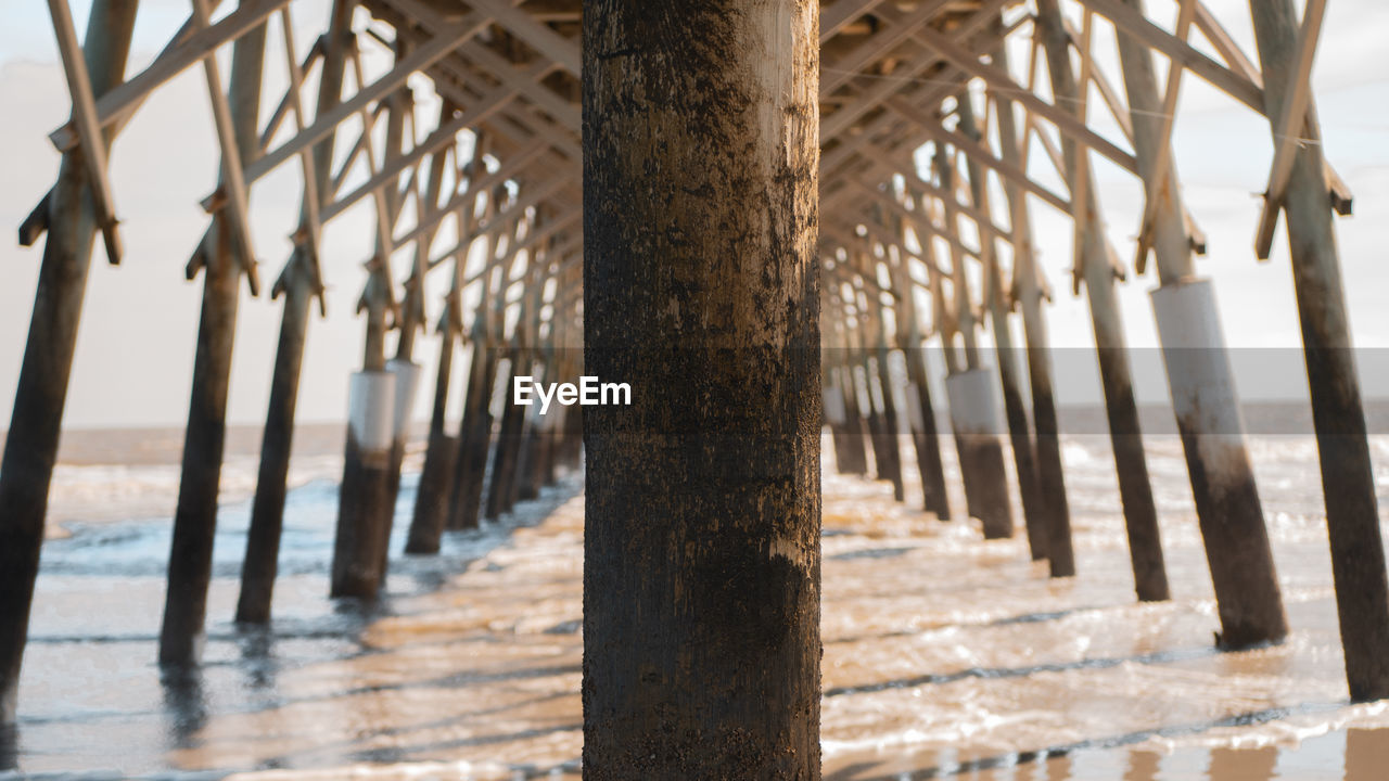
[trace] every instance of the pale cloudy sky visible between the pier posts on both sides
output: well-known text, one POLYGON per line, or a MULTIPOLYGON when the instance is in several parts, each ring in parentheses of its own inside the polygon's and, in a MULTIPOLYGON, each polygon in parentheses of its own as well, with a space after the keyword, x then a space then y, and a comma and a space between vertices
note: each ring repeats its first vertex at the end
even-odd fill
MULTIPOLYGON (((0 115, 3 416, 8 416, 13 406, 42 257, 42 242, 19 247, 15 228, 53 182, 58 154, 46 136, 68 115, 68 94, 57 65, 47 10, 39 0, 14 4, 19 8, 8 8, 8 25, 0 28, 0 106, 6 107, 0 115)), ((1207 0, 1207 4, 1257 61, 1243 0, 1207 0)), ((300 36, 307 39, 324 28, 326 3, 299 0, 293 7, 300 36)), ((1149 7, 1175 14, 1176 4, 1149 0, 1149 7)), ((85 29, 88 8, 89 0, 74 1, 79 32, 85 29)), ((189 4, 183 0, 142 3, 131 74, 153 58, 188 13, 189 4)), ((1389 245, 1389 54, 1382 40, 1385 29, 1389 29, 1389 3, 1331 3, 1314 71, 1325 151, 1356 196, 1356 214, 1338 220, 1338 236, 1354 340, 1360 347, 1389 347, 1389 306, 1385 306, 1389 290, 1385 253, 1389 245)), ((307 43, 301 43, 300 51, 306 47, 307 43)), ((1204 42, 1197 47, 1206 49, 1204 42)), ((1096 26, 1095 49, 1101 61, 1111 63, 1106 69, 1118 83, 1114 39, 1104 24, 1096 26)), ((269 67, 279 65, 283 54, 278 32, 271 35, 268 51, 269 67)), ((1022 53, 1015 53, 1014 67, 1022 60, 1022 53)), ((1163 60, 1158 63, 1161 67, 1163 60)), ((275 100, 278 96, 267 96, 271 106, 275 100)), ((1103 108, 1093 106, 1092 117, 1099 113, 1103 108)), ((1126 146, 1113 124, 1096 121, 1095 126, 1126 146)), ((1267 120, 1188 74, 1182 81, 1175 151, 1188 207, 1210 245, 1210 254, 1197 260, 1197 270, 1215 281, 1228 342, 1236 347, 1299 347, 1283 228, 1279 227, 1270 263, 1257 263, 1253 254, 1261 208, 1261 199, 1254 193, 1264 189, 1272 158, 1267 120)), ((1110 235, 1128 264, 1142 207, 1140 186, 1128 174, 1093 160, 1110 235)), ((111 175, 126 256, 122 267, 108 267, 97 242, 68 393, 68 427, 182 425, 201 295, 201 279, 186 282, 183 265, 207 224, 199 200, 211 192, 217 164, 206 86, 197 68, 157 92, 117 140, 111 175)), ((1065 192, 1058 179, 1049 185, 1065 192)), ((253 190, 257 253, 267 289, 288 257, 286 236, 297 221, 299 197, 299 174, 293 165, 282 167, 253 190)), ((1040 260, 1057 293, 1056 304, 1049 309, 1053 343, 1089 349, 1093 339, 1083 290, 1081 297, 1070 292, 1071 228, 1046 204, 1032 203, 1040 260)), ((360 365, 363 340, 363 327, 351 311, 365 278, 361 263, 369 254, 371 232, 369 214, 358 207, 333 222, 326 233, 329 318, 315 318, 310 328, 300 421, 342 420, 346 414, 347 374, 360 365)), ((397 278, 401 271, 397 267, 397 278)), ((1131 274, 1121 285, 1131 346, 1157 343, 1147 295, 1154 285, 1151 271, 1143 278, 1131 274)), ((439 297, 432 295, 428 306, 432 322, 438 317, 439 297)), ((232 422, 257 424, 264 417, 279 311, 278 302, 265 296, 246 296, 242 302, 229 406, 232 422)), ((1381 359, 1381 352, 1389 354, 1389 350, 1361 354, 1367 395, 1389 396, 1389 360, 1381 359)), ((424 342, 421 353, 418 359, 431 378, 424 385, 432 388, 435 342, 424 342)), ((1240 352, 1236 365, 1251 354, 1256 353, 1240 352)), ((1285 363, 1286 356, 1293 356, 1286 350, 1282 354, 1285 363)), ((1151 361, 1150 365, 1156 368, 1151 361)), ((1301 392, 1300 364, 1290 365, 1295 371, 1274 379, 1250 381, 1242 375, 1242 395, 1268 397, 1301 392)), ((1097 397, 1093 360, 1067 359, 1058 370, 1061 403, 1097 397)), ((1140 368, 1138 378, 1140 399, 1160 402, 1165 397, 1160 371, 1140 368)), ((428 414, 429 400, 424 396, 417 399, 417 417, 428 414)), ((7 427, 7 421, 8 417, 0 421, 0 428, 7 427)))

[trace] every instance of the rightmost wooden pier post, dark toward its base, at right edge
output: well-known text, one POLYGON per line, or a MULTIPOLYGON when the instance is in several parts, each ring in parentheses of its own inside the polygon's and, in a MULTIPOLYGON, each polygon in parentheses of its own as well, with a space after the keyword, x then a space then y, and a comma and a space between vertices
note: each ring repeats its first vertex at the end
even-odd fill
MULTIPOLYGON (((1250 3, 1250 11, 1264 71, 1265 110, 1270 117, 1278 117, 1283 103, 1292 100, 1289 86, 1297 40, 1293 4, 1258 0, 1250 3)), ((1301 88, 1310 89, 1306 83, 1301 88)), ((1306 121, 1297 126, 1303 138, 1318 139, 1317 113, 1310 99, 1307 104, 1306 121)), ((1274 145, 1285 140, 1274 128, 1274 145)), ((1351 699, 1370 700, 1389 696, 1389 655, 1385 653, 1389 649, 1389 585, 1322 165, 1320 143, 1299 145, 1282 206, 1321 454, 1346 680, 1351 699)), ((1276 204, 1270 207, 1276 208, 1276 204)))

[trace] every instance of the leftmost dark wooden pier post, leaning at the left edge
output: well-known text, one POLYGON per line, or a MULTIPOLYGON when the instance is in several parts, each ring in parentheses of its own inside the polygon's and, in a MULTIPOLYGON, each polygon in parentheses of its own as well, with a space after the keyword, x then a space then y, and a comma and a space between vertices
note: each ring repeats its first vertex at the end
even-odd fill
MULTIPOLYGON (((92 4, 83 54, 97 96, 124 79, 138 6, 138 0, 92 4)), ((74 149, 63 156, 57 183, 44 199, 49 238, 0 461, 0 730, 15 720, 49 485, 97 231, 89 189, 82 151, 74 149)))

